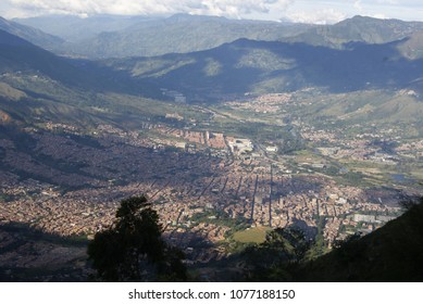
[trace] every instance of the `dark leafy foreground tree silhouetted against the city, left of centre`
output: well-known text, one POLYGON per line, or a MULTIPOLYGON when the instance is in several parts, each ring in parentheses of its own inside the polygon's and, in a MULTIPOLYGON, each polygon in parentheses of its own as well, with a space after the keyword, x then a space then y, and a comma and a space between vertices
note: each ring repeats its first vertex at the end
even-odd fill
POLYGON ((96 233, 88 258, 103 281, 183 281, 181 250, 162 239, 159 216, 146 197, 121 201, 113 225, 96 233))

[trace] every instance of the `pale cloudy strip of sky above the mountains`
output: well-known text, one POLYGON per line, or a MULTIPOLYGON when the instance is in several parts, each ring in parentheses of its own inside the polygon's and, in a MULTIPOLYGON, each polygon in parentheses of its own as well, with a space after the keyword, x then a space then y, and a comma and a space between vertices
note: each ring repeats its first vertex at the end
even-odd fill
POLYGON ((0 0, 0 16, 171 15, 332 24, 354 16, 423 21, 422 0, 0 0))

